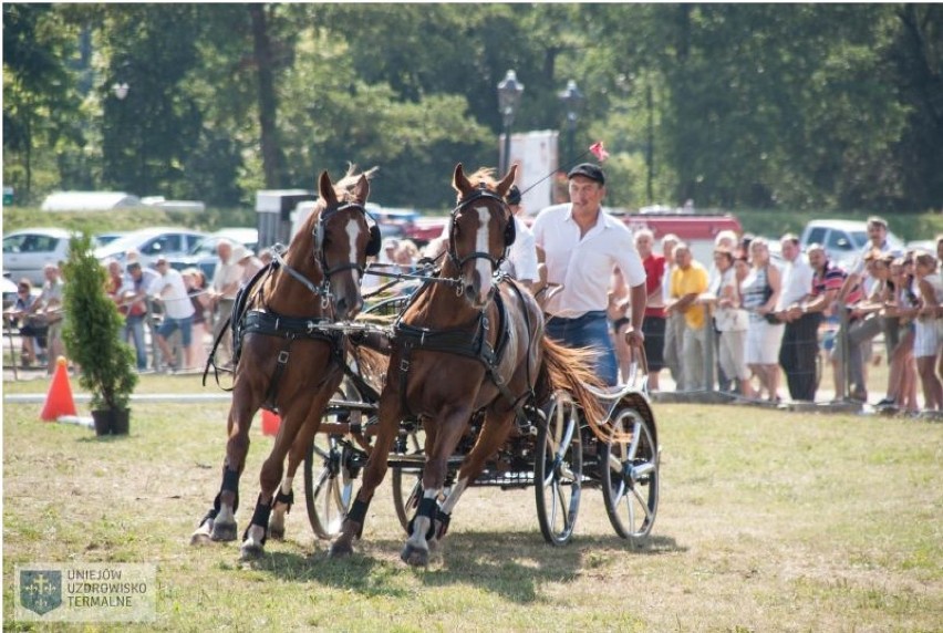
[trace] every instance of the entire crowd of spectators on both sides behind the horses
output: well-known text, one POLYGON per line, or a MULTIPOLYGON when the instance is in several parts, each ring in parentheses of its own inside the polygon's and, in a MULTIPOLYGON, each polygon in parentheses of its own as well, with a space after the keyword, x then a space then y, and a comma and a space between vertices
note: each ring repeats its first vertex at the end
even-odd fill
MULTIPOLYGON (((519 211, 519 191, 511 197, 512 209, 519 211)), ((540 225, 538 229, 542 249, 548 238, 540 225)), ((521 240, 527 257, 512 258, 506 271, 520 274, 528 288, 548 286, 546 263, 537 266, 536 253, 543 255, 542 250, 526 226, 519 235, 530 238, 521 240)), ((868 245, 844 268, 831 261, 821 245, 810 245, 804 252, 791 234, 780 238, 774 257, 767 240, 723 231, 716 237, 713 260, 701 262, 677 236, 665 235, 659 243, 651 230, 635 231, 634 247, 645 273, 641 330, 649 388, 660 390, 666 369, 682 392, 718 390, 769 402, 787 395, 792 402, 815 402, 830 378, 837 401, 916 413, 920 393, 923 409, 943 411, 943 236, 936 239, 936 252, 901 252, 887 239, 887 222, 872 217, 868 237, 868 245), (883 341, 880 347, 875 340, 883 341), (868 393, 867 377, 869 365, 882 360, 889 378, 878 398, 868 393)), ((417 270, 421 253, 415 243, 390 238, 383 246, 379 259, 386 270, 417 270)), ((443 249, 444 243, 434 240, 424 255, 434 259, 443 249)), ((122 338, 134 347, 138 371, 203 367, 208 344, 220 333, 220 362, 231 362, 224 324, 240 286, 271 256, 256 257, 227 241, 219 243, 217 253, 211 280, 198 268, 174 270, 164 258, 157 259, 156 269, 145 268, 133 251, 125 253, 124 266, 105 262, 106 290, 124 316, 122 338), (159 325, 155 307, 162 315, 159 325), (145 329, 151 330, 159 356, 148 359, 145 329)), ((633 280, 641 279, 638 270, 632 274, 633 280)), ((44 277, 37 297, 29 280, 20 280, 15 302, 4 316, 21 334, 23 365, 43 363, 51 373, 64 353, 64 281, 54 264, 45 267, 44 277)), ((371 277, 376 276, 366 276, 364 290, 388 281, 371 277)), ((642 295, 642 288, 632 288, 630 292, 618 267, 612 269, 609 304, 593 312, 608 321, 621 381, 628 378, 631 364, 626 332, 633 330, 628 316, 632 297, 641 302, 642 295)), ((548 316, 551 322, 563 319, 548 316)))

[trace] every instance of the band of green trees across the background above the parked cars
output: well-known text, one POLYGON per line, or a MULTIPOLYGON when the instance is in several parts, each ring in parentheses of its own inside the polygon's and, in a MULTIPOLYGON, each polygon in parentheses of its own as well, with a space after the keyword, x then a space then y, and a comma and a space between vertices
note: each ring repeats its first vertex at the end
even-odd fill
MULTIPOLYGON (((889 211, 943 199, 933 4, 4 4, 4 183, 250 206, 379 166, 445 208, 515 129, 612 152, 610 204, 889 211), (129 86, 124 100, 112 90, 129 86)), ((571 156, 562 156, 563 164, 571 156)))

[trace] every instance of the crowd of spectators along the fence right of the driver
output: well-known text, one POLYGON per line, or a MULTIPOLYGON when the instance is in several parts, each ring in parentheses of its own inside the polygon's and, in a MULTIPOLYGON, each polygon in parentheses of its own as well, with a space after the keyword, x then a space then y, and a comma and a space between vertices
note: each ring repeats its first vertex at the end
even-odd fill
MULTIPOLYGON (((651 349, 657 334, 645 341, 651 369, 657 373, 663 357, 678 391, 717 388, 771 402, 786 394, 814 402, 827 374, 836 401, 909 413, 919 411, 920 386, 923 409, 943 411, 943 236, 935 253, 901 252, 878 217, 869 218, 868 236, 844 268, 821 245, 802 252, 791 234, 781 237, 776 258, 763 238, 721 235, 708 270, 667 235, 659 270, 651 235, 636 232, 639 252, 654 263, 646 266, 649 287, 662 280, 666 314, 662 349, 651 349), (867 374, 883 359, 889 381, 879 399, 868 393, 867 374)), ((657 390, 656 380, 649 384, 657 390)))

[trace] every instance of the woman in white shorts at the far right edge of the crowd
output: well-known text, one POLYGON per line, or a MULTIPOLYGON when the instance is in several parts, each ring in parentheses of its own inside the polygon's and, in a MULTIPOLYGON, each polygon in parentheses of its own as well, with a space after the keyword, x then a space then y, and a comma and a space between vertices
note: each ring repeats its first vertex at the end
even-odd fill
POLYGON ((923 384, 923 404, 928 411, 943 411, 943 383, 936 375, 936 356, 941 350, 936 309, 943 303, 943 279, 936 258, 918 251, 913 257, 914 282, 920 290, 920 310, 914 322, 913 355, 923 384))

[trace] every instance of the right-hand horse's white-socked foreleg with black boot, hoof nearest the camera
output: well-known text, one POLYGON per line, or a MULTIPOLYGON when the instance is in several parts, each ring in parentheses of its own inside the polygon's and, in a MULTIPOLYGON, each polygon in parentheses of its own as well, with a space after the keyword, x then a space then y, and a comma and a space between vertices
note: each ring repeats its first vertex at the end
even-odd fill
MULTIPOLYGON (((412 567, 426 567, 429 561, 431 540, 435 541, 434 521, 438 516, 438 497, 445 487, 448 458, 465 433, 469 412, 467 407, 455 407, 443 416, 435 444, 426 456, 423 468, 423 498, 413 518, 412 533, 400 552, 400 559, 412 567)), ((459 487, 467 482, 459 481, 459 487)), ((460 495, 460 494, 459 494, 460 495)))

